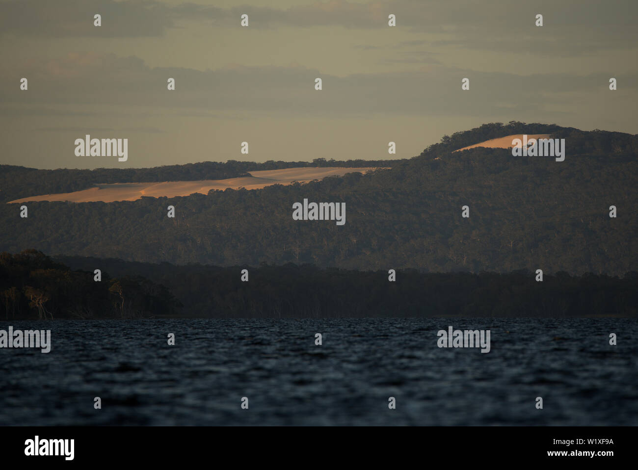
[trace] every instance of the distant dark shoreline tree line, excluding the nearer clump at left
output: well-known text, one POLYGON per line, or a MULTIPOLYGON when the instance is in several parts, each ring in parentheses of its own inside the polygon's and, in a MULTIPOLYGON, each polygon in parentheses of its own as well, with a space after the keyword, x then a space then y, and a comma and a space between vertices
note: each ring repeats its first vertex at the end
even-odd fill
POLYGON ((313 265, 174 266, 65 257, 73 268, 102 267, 167 286, 180 315, 203 318, 587 317, 638 316, 638 273, 623 277, 528 271, 498 274, 360 272, 313 265), (248 269, 248 282, 241 270, 248 269))

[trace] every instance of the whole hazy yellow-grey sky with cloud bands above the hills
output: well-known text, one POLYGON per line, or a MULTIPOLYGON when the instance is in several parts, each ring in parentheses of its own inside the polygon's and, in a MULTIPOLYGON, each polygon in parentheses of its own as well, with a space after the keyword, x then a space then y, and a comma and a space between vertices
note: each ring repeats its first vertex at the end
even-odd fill
POLYGON ((410 158, 486 122, 636 134, 636 20, 635 0, 0 0, 0 163, 410 158), (128 138, 127 161, 76 156, 86 134, 128 138))

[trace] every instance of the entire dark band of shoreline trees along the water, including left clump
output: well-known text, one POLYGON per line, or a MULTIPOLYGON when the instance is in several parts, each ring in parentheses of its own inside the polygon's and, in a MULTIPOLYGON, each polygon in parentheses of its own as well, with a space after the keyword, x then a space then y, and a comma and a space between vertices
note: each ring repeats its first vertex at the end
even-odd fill
POLYGON ((387 270, 52 260, 29 250, 0 254, 0 319, 638 316, 636 272, 559 272, 541 283, 531 272, 399 270, 388 279, 387 270))

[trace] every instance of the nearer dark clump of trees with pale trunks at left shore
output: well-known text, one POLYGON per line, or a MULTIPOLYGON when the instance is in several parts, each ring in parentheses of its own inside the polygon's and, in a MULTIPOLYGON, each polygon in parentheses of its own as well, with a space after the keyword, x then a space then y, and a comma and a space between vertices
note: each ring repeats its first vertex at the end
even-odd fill
POLYGON ((0 319, 171 316, 181 305, 167 288, 136 275, 72 271, 40 251, 0 253, 0 319))

